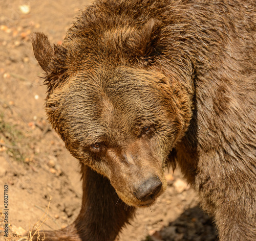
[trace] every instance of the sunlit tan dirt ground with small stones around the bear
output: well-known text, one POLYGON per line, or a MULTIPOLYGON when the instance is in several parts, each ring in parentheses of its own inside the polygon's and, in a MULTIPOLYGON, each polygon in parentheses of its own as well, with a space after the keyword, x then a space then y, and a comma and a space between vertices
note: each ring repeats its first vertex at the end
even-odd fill
MULTIPOLYGON (((46 86, 30 33, 44 32, 52 43, 61 43, 78 10, 88 4, 0 0, 0 209, 8 209, 7 240, 18 239, 14 232, 23 235, 30 230, 49 202, 48 219, 41 227, 45 230, 65 227, 79 212, 79 164, 47 122, 46 86), (5 185, 8 200, 4 200, 5 185)), ((165 194, 154 206, 138 210, 118 240, 217 240, 212 221, 179 171, 169 170, 166 177, 165 194)), ((0 240, 5 239, 5 218, 0 217, 0 240)))

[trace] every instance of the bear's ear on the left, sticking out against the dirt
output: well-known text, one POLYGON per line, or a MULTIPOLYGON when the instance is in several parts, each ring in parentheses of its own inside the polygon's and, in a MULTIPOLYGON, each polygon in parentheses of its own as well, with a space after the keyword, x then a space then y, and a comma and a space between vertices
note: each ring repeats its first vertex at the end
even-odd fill
POLYGON ((59 73, 65 68, 66 50, 60 45, 51 45, 44 33, 31 35, 36 60, 46 74, 59 73))

